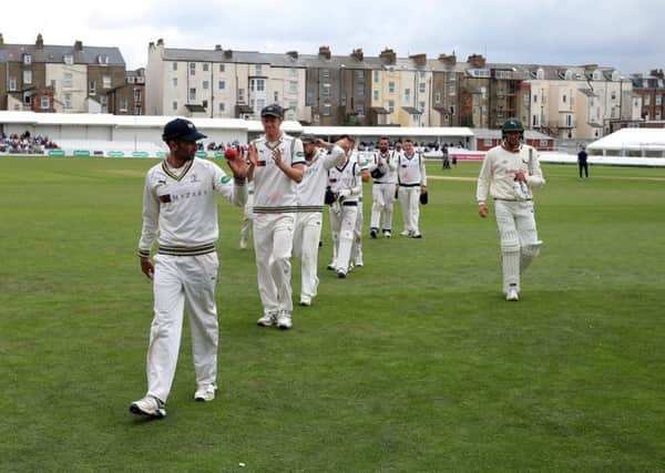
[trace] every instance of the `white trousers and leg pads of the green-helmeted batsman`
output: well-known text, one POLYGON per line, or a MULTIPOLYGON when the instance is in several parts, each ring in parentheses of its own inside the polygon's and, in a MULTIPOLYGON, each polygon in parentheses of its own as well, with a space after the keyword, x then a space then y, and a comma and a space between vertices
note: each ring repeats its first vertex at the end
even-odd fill
POLYGON ((532 200, 494 200, 501 239, 503 292, 520 291, 520 277, 540 253, 532 200))

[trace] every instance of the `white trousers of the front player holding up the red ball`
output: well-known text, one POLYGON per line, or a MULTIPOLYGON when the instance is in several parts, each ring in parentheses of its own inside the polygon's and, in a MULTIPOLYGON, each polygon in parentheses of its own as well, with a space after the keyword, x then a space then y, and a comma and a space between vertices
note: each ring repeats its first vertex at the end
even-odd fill
POLYGON ((198 256, 155 255, 154 318, 150 331, 147 393, 166 402, 180 351, 185 302, 192 331, 196 385, 216 384, 219 328, 215 251, 198 256))

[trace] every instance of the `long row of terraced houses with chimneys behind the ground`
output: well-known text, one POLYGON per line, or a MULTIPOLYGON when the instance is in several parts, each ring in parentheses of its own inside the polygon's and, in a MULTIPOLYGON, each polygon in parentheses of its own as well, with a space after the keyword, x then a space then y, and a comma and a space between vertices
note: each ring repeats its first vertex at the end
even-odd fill
POLYGON ((556 138, 593 140, 664 120, 662 70, 491 63, 454 52, 398 58, 361 49, 332 54, 209 50, 151 42, 145 69, 127 71, 114 47, 4 44, 0 109, 257 119, 279 103, 308 125, 497 128, 509 116, 556 138))

